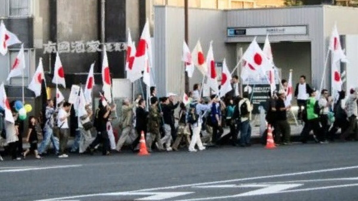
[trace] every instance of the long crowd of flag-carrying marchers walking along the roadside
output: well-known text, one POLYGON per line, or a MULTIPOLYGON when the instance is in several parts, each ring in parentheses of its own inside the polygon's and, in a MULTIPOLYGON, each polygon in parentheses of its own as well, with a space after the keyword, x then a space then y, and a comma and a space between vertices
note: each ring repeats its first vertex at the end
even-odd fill
MULTIPOLYGON (((283 146, 291 144, 291 126, 287 119, 291 106, 285 104, 289 90, 287 81, 282 80, 281 84, 279 92, 268 92, 270 98, 267 100, 266 123, 272 127, 275 143, 283 146)), ((171 152, 183 147, 189 152, 197 152, 222 144, 251 146, 252 97, 245 91, 240 96, 238 77, 233 76, 232 91, 222 98, 216 94, 202 98, 201 87, 200 84, 194 84, 185 103, 180 100, 175 102, 177 98, 173 93, 158 98, 155 87, 150 88, 147 100, 141 95, 137 95, 133 102, 124 99, 117 141, 111 131, 116 105, 108 104, 103 96, 98 108, 93 109, 87 105, 87 113, 77 115, 76 124, 68 122, 71 104, 65 101, 56 107, 54 100, 47 100, 44 118, 29 117, 28 128, 23 129, 24 133, 20 132, 18 113, 14 109, 15 123, 2 122, 0 141, 5 151, 1 153, 13 160, 23 160, 29 153, 42 159, 50 152, 49 148, 59 158, 66 158, 69 153, 93 155, 97 150, 102 155, 110 155, 121 152, 125 146, 136 152, 142 133, 148 152, 153 149, 171 152), (70 125, 76 125, 72 146, 68 146, 70 125), (224 133, 224 130, 227 132, 224 133), (23 149, 23 137, 30 144, 26 150, 23 149), (131 143, 126 143, 128 141, 131 143)), ((357 140, 358 88, 350 89, 347 98, 344 91, 338 92, 337 98, 330 96, 327 89, 321 90, 320 95, 316 93, 302 75, 294 93, 298 119, 304 124, 300 134, 301 142, 307 143, 311 131, 312 139, 317 143, 329 143, 338 138, 357 140), (339 129, 340 136, 336 134, 339 129)), ((1 155, 0 159, 3 160, 1 155)))

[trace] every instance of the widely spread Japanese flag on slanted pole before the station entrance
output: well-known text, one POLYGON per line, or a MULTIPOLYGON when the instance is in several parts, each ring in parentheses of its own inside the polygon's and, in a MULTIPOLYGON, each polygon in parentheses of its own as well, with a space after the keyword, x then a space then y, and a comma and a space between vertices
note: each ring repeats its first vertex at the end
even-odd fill
POLYGON ((272 62, 267 59, 260 46, 258 46, 256 38, 253 39, 242 58, 247 62, 250 70, 264 76, 272 67, 272 62))

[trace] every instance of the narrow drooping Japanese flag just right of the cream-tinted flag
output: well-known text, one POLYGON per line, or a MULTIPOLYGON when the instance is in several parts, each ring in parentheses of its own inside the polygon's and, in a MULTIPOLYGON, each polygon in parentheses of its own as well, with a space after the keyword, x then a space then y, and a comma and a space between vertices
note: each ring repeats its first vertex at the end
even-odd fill
POLYGON ((219 84, 217 81, 217 74, 215 69, 215 60, 214 60, 214 52, 213 52, 213 45, 210 42, 209 51, 206 57, 206 63, 208 67, 208 74, 207 74, 207 84, 209 87, 214 91, 214 93, 219 93, 219 84))

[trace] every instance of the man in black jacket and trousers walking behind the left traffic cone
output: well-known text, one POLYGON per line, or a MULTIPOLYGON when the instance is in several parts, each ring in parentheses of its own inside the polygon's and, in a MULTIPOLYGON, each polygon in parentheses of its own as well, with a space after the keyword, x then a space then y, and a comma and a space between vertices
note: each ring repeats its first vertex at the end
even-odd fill
POLYGON ((144 132, 145 139, 147 138, 148 114, 149 112, 145 111, 145 100, 140 99, 136 109, 136 131, 138 136, 132 143, 132 150, 137 147, 142 132, 144 132))

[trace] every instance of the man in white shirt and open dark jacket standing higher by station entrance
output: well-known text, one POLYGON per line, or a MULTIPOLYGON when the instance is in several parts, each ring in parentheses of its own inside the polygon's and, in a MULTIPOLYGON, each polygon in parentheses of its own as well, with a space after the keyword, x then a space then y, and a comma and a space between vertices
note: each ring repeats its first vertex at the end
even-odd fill
POLYGON ((297 98, 298 118, 301 118, 302 107, 305 107, 306 100, 309 98, 308 93, 313 89, 306 83, 306 76, 301 75, 300 82, 296 85, 295 97, 297 98))

